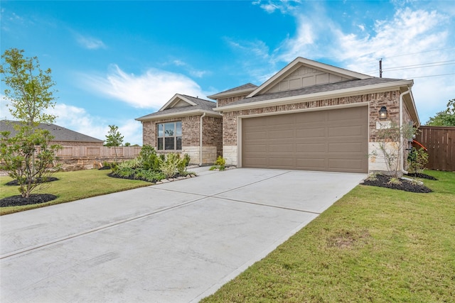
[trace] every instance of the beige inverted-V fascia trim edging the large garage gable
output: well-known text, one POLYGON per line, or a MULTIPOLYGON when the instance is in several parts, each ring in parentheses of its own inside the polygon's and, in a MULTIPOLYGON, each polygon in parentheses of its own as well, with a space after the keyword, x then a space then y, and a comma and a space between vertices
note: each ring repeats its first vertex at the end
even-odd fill
POLYGON ((333 74, 336 74, 336 75, 340 75, 342 77, 347 77, 347 78, 350 78, 350 79, 369 79, 369 78, 372 78, 372 76, 365 75, 365 74, 360 74, 359 72, 353 72, 351 70, 345 70, 343 68, 335 67, 333 65, 326 65, 325 63, 316 62, 316 61, 313 61, 313 60, 305 59, 303 57, 297 57, 294 61, 289 63, 282 70, 277 72, 277 74, 275 74, 273 77, 268 79, 263 84, 259 85, 259 87, 257 87, 257 89, 255 89, 254 92, 251 92, 251 94, 249 94, 247 96, 247 98, 251 98, 251 97, 256 96, 259 92, 262 92, 264 89, 269 87, 271 84, 273 84, 274 82, 277 82, 277 80, 279 80, 282 77, 284 77, 284 75, 287 75, 287 74, 293 72, 294 70, 296 70, 297 68, 301 67, 302 65, 305 65, 305 66, 308 66, 308 67, 313 67, 316 70, 323 70, 323 71, 330 72, 330 73, 333 73, 333 74))

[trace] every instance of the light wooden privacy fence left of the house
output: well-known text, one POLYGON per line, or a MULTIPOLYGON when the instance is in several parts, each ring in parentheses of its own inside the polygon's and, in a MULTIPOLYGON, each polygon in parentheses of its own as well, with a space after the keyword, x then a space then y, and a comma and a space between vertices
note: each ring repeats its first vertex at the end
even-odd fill
POLYGON ((112 159, 115 158, 117 150, 118 158, 136 158, 140 151, 140 146, 119 146, 117 148, 107 146, 63 146, 58 150, 57 157, 60 159, 112 159))

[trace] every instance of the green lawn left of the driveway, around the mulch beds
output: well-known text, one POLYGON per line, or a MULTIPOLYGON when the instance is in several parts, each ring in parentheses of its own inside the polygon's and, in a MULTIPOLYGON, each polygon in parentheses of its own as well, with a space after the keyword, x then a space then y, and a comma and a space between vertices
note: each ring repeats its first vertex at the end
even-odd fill
MULTIPOLYGON (((55 194, 58 198, 43 204, 32 204, 25 206, 8 206, 0 208, 0 215, 12 214, 18 211, 36 209, 38 207, 71 202, 78 199, 122 192, 127 189, 148 186, 151 183, 139 180, 124 180, 107 177, 110 170, 80 170, 76 172, 56 172, 53 177, 58 181, 48 182, 45 188, 39 189, 36 194, 55 194)), ((0 177, 0 199, 19 194, 17 186, 6 186, 12 179, 0 177)))

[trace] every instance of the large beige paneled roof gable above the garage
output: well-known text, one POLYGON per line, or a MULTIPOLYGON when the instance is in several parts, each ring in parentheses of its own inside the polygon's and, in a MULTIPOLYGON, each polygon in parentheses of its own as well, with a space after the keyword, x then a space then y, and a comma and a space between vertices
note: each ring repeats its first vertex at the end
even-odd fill
POLYGON ((320 84, 343 82, 353 79, 369 79, 369 75, 360 74, 340 67, 297 57, 273 77, 257 87, 247 97, 261 94, 286 92, 293 89, 312 87, 320 84))

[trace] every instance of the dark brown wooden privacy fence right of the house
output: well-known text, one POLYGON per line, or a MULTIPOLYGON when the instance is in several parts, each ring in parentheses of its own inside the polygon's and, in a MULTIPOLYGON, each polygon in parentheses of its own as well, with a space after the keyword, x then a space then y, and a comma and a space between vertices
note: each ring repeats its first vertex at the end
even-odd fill
POLYGON ((428 149, 429 170, 455 171, 455 126, 420 126, 415 140, 428 149))

